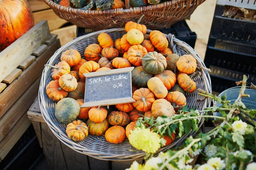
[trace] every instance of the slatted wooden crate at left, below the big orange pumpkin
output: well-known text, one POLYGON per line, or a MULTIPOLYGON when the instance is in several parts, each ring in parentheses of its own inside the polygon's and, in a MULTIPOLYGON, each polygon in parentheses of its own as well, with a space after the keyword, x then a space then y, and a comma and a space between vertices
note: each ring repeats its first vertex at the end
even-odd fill
MULTIPOLYGON (((40 26, 47 26, 46 21, 38 24, 40 26)), ((36 25, 35 28, 47 31, 47 29, 38 27, 38 25, 36 25)), ((33 27, 32 30, 35 30, 35 28, 33 27)), ((13 46, 19 46, 18 48, 14 46, 18 54, 16 54, 13 49, 4 54, 4 51, 0 53, 0 57, 5 57, 5 54, 12 54, 12 60, 16 60, 16 67, 19 68, 15 68, 15 65, 9 67, 8 69, 14 69, 14 71, 3 79, 5 83, 1 83, 5 88, 0 92, 0 161, 5 158, 20 136, 22 136, 31 124, 26 113, 38 95, 44 64, 46 64, 55 51, 60 48, 59 39, 56 39, 56 35, 51 34, 49 34, 49 37, 46 36, 47 39, 41 39, 38 45, 35 45, 37 42, 32 40, 34 44, 32 48, 26 43, 29 43, 32 39, 31 35, 34 35, 38 31, 29 31, 31 34, 28 34, 28 37, 18 39, 12 44, 13 46), (23 44, 25 46, 22 46, 23 44), (19 49, 22 51, 19 51, 19 49), (20 54, 22 52, 26 53, 28 57, 22 56, 20 54), (31 54, 33 54, 33 56, 31 54), (19 57, 23 57, 24 60, 17 62, 17 60, 20 59, 19 57)), ((40 37, 40 35, 37 36, 40 37)), ((1 62, 4 63, 6 60, 8 61, 6 58, 2 58, 3 60, 1 62)))

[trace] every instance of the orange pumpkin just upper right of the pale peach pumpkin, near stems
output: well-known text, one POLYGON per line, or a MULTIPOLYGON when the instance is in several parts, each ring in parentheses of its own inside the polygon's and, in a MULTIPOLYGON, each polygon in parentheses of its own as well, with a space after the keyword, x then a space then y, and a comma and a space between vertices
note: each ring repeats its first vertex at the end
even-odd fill
POLYGON ((186 106, 186 97, 179 91, 169 92, 166 96, 166 100, 172 104, 175 111, 178 111, 179 108, 182 109, 184 106, 186 106))

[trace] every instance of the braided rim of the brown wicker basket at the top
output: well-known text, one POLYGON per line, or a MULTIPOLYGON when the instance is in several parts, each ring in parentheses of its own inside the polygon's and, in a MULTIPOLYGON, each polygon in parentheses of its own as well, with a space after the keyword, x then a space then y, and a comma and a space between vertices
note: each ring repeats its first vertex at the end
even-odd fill
MULTIPOLYGON (((166 8, 167 6, 174 6, 179 5, 180 3, 185 3, 187 0, 170 0, 167 2, 159 3, 156 5, 150 5, 150 6, 142 6, 142 7, 130 7, 129 9, 123 9, 123 8, 117 8, 117 9, 108 9, 108 10, 81 10, 77 8, 68 8, 65 6, 61 6, 57 3, 55 3, 52 0, 44 0, 44 2, 53 9, 58 9, 62 12, 70 13, 70 14, 84 14, 84 15, 102 15, 102 14, 131 14, 136 13, 136 11, 152 11, 155 9, 161 9, 166 8)), ((191 3, 191 6, 198 6, 201 3, 203 3, 205 0, 194 0, 198 1, 198 3, 191 3), (201 2, 201 3, 200 3, 201 2)))

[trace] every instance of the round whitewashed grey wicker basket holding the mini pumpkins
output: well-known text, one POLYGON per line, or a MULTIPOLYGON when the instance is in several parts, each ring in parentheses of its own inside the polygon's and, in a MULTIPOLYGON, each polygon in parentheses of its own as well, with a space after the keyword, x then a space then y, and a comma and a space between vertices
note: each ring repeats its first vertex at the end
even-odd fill
MULTIPOLYGON (((150 31, 151 30, 148 30, 148 32, 150 31)), ((97 37, 100 33, 103 32, 110 34, 113 40, 121 38, 122 35, 126 33, 125 29, 123 28, 113 28, 78 37, 63 47, 59 48, 58 51, 56 51, 55 54, 51 57, 51 59, 49 59, 47 64, 57 64, 60 61, 61 53, 70 48, 78 50, 81 56, 84 57, 84 49, 89 44, 98 43, 97 37)), ((174 53, 180 55, 191 54, 193 57, 195 57, 197 60, 198 69, 195 71, 195 75, 192 79, 196 82, 197 88, 211 92, 211 80, 209 73, 205 69, 202 69, 205 67, 205 65, 201 58, 185 42, 177 40, 171 34, 169 34, 169 36, 166 35, 166 37, 169 37, 169 47, 173 49, 174 53)), ((69 139, 66 134, 66 124, 58 122, 55 118, 54 109, 56 102, 53 102, 51 99, 49 99, 46 94, 46 86, 52 80, 51 71, 52 69, 49 67, 44 68, 39 89, 39 103, 45 122, 49 125, 52 132, 55 134, 55 136, 57 136, 59 140, 61 140, 61 142, 73 150, 76 150, 77 152, 84 153, 88 156, 102 160, 134 160, 145 156, 143 151, 136 150, 134 147, 132 147, 128 139, 125 139, 125 141, 121 144, 111 144, 107 142, 104 135, 97 137, 89 134, 87 138, 81 142, 74 142, 69 139)), ((196 91, 192 94, 187 94, 187 104, 189 108, 197 106, 197 109, 203 110, 204 108, 210 106, 210 102, 210 99, 204 99, 204 97, 198 96, 196 91)), ((201 127, 203 122, 204 119, 201 119, 199 127, 201 127)), ((195 132, 191 131, 189 135, 193 135, 194 133, 195 132)), ((183 142, 184 139, 186 139, 187 136, 188 135, 185 135, 181 138, 175 139, 172 144, 160 148, 158 152, 172 147, 177 147, 183 142)))

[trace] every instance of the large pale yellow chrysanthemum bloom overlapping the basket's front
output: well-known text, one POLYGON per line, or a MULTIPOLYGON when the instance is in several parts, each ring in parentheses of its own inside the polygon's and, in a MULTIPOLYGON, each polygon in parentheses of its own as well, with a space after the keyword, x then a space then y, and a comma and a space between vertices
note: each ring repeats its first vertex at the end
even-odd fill
POLYGON ((149 129, 137 127, 129 135, 130 144, 146 153, 155 153, 160 148, 160 136, 149 129))

